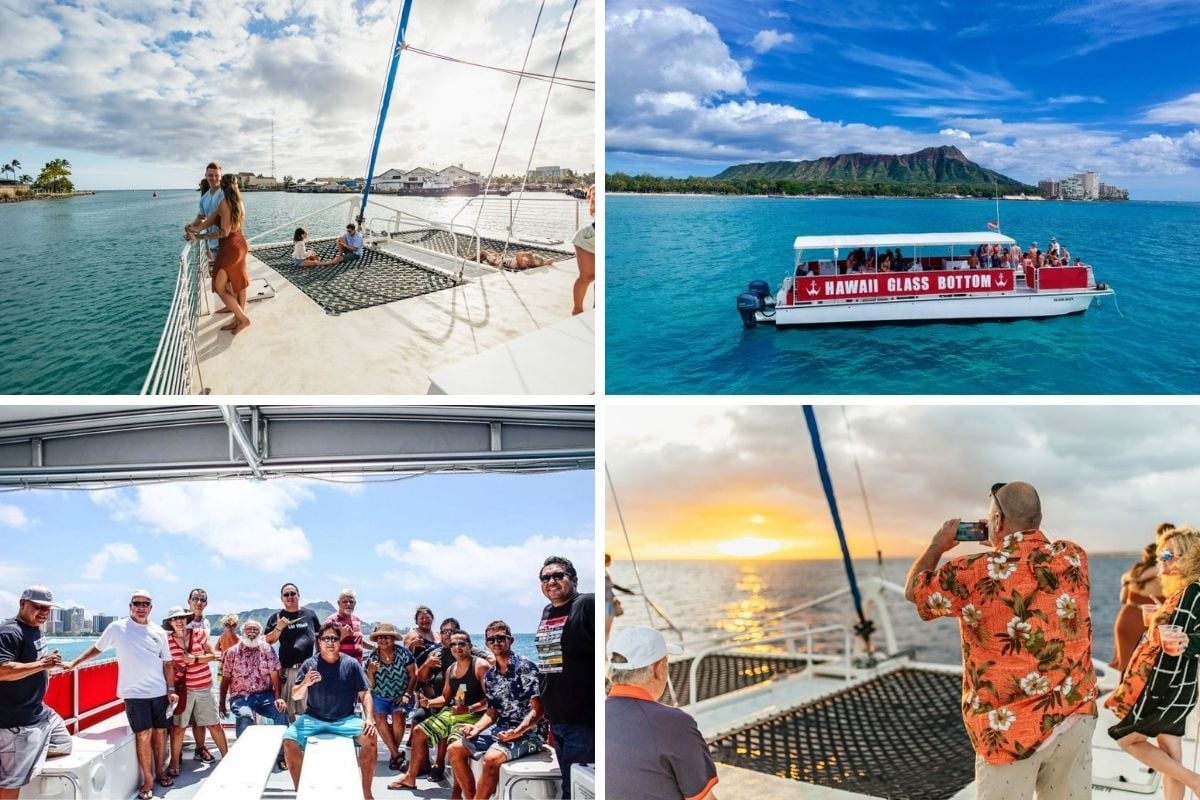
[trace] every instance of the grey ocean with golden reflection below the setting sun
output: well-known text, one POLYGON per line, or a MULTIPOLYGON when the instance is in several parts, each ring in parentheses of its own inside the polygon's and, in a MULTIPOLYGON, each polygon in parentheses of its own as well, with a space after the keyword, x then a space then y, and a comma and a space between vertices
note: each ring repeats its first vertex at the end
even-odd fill
MULTIPOLYGON (((1088 559, 1092 578, 1092 656, 1103 662, 1112 658, 1112 624, 1120 608, 1121 575, 1138 555, 1093 555, 1088 559)), ((882 577, 904 585, 912 559, 856 560, 854 571, 862 581, 882 577)), ((798 606, 847 587, 840 560, 814 561, 638 561, 648 596, 685 637, 710 637, 720 632, 755 636, 773 612, 798 606)), ((637 590, 637 578, 630 561, 613 561, 613 582, 637 590)), ((625 609, 614 627, 647 625, 646 604, 637 597, 617 595, 625 609)), ((900 648, 917 648, 917 657, 935 663, 961 664, 959 624, 955 619, 922 622, 904 597, 888 601, 888 613, 900 648)), ((799 618, 816 627, 842 624, 852 626, 853 601, 848 595, 826 606, 804 612, 799 618)), ((655 621, 662 627, 661 620, 655 621)), ((668 639, 673 640, 673 639, 668 639)), ((881 633, 874 642, 882 644, 881 633)), ((830 642, 824 644, 828 650, 830 642)), ((840 650, 840 644, 836 646, 840 650)))

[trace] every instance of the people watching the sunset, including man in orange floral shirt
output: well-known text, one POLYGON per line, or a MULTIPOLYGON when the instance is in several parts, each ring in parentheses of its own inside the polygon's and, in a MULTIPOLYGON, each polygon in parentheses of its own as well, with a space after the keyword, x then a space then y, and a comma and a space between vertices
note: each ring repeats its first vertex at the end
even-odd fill
MULTIPOLYGON (((988 501, 990 549, 942 563, 960 543, 961 521, 946 521, 913 560, 905 596, 923 620, 959 620, 976 796, 1091 796, 1102 697, 1087 553, 1046 536, 1030 483, 995 483, 988 501)), ((1122 579, 1122 602, 1121 681, 1103 698, 1117 720, 1108 735, 1163 776, 1166 800, 1183 800, 1188 789, 1200 795, 1200 774, 1182 763, 1200 672, 1200 530, 1159 525, 1156 543, 1122 579)), ((678 651, 649 627, 618 630, 608 643, 605 723, 622 730, 606 745, 612 796, 714 798, 718 775, 695 721, 658 703, 668 656, 678 651)))

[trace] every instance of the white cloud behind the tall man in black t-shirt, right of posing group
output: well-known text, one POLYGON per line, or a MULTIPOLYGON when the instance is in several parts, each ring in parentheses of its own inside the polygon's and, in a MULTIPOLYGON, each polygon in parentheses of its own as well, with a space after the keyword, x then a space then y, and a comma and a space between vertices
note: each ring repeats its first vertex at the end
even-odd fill
MULTIPOLYGON (((486 595, 504 597, 522 608, 540 608, 546 599, 538 587, 538 571, 548 555, 562 555, 575 564, 581 591, 595 587, 593 539, 533 535, 517 545, 487 545, 467 535, 448 542, 389 539, 376 546, 376 553, 398 565, 388 578, 404 591, 445 587, 446 570, 461 570, 476 576, 486 595)), ((468 607, 469 594, 454 594, 456 609, 468 607)), ((474 600, 486 601, 486 596, 474 600)))

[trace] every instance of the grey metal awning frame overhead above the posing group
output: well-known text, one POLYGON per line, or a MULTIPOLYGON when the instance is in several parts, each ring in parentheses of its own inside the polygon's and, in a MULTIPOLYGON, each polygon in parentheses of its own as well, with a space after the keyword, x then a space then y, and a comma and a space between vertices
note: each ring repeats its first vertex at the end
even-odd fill
POLYGON ((0 407, 0 487, 594 468, 590 405, 0 407))

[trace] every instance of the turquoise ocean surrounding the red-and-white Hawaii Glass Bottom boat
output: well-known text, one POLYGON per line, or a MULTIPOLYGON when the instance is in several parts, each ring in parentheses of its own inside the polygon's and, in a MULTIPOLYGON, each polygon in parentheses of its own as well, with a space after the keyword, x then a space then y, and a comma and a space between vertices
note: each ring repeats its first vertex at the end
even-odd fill
POLYGON ((755 279, 798 235, 986 230, 992 200, 613 196, 605 221, 606 389, 647 395, 1200 392, 1198 203, 1001 200, 1022 249, 1057 236, 1116 289, 1085 314, 1006 323, 744 330, 755 279))

